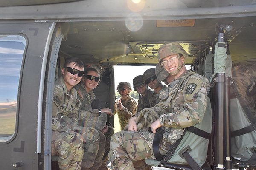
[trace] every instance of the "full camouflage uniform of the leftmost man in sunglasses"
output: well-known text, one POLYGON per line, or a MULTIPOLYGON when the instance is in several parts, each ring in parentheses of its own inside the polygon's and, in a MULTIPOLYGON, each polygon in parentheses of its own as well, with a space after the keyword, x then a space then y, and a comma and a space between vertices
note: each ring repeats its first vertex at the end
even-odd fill
POLYGON ((61 170, 80 170, 84 145, 77 125, 78 108, 76 90, 67 91, 63 77, 55 82, 52 104, 52 156, 57 155, 61 170), (73 132, 71 132, 71 130, 73 132), (76 132, 74 132, 76 131, 76 132))

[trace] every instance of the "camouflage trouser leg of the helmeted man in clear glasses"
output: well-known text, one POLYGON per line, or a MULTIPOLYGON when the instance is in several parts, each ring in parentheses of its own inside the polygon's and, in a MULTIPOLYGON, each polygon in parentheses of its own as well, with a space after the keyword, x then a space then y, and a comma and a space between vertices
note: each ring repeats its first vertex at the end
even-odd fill
POLYGON ((133 161, 155 159, 153 154, 154 133, 121 131, 110 142, 109 158, 112 170, 136 170, 133 161))

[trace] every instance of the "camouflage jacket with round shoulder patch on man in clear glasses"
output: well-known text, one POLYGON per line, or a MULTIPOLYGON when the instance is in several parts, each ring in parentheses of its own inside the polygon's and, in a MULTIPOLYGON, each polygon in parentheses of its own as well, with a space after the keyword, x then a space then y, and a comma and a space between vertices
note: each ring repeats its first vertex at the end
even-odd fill
POLYGON ((187 71, 161 91, 161 101, 157 105, 136 113, 137 128, 145 131, 152 122, 159 119, 165 130, 160 146, 168 149, 180 139, 184 128, 201 122, 204 113, 207 112, 209 89, 210 83, 207 78, 187 71))

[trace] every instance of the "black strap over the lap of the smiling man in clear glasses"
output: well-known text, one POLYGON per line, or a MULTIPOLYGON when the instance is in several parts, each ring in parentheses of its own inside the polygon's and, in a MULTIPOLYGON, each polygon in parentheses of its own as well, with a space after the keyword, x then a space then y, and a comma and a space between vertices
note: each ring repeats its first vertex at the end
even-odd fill
POLYGON ((163 155, 161 155, 159 152, 159 144, 160 144, 161 139, 163 138, 163 133, 164 133, 164 130, 157 129, 157 132, 155 133, 155 136, 153 139, 153 145, 152 145, 153 153, 158 161, 160 161, 163 158, 163 155))

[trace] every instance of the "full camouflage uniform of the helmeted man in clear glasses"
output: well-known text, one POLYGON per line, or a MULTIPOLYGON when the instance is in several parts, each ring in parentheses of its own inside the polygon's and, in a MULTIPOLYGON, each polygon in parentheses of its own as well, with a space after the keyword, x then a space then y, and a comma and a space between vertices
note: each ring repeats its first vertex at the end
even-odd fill
POLYGON ((185 72, 171 82, 169 88, 160 93, 161 101, 157 105, 135 114, 137 132, 121 131, 112 136, 109 153, 112 169, 132 170, 132 161, 155 159, 152 149, 154 133, 145 130, 157 119, 165 130, 160 142, 160 153, 164 155, 180 139, 185 127, 195 125, 203 119, 204 113, 208 111, 206 103, 209 88, 208 79, 192 71, 185 72), (145 120, 146 115, 150 119, 145 120), (138 126, 140 122, 144 122, 141 127, 138 126))

